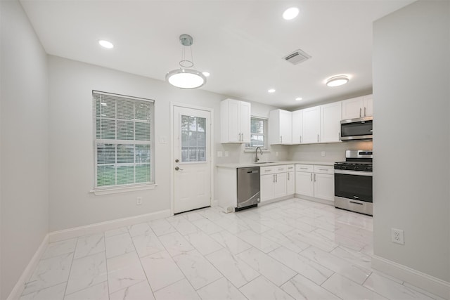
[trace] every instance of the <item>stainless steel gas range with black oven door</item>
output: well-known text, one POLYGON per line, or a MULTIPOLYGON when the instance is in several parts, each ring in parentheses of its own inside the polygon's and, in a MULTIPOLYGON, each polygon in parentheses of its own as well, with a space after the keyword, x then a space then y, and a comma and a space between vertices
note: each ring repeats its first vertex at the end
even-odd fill
POLYGON ((347 150, 335 162, 335 207, 373 215, 372 150, 347 150))

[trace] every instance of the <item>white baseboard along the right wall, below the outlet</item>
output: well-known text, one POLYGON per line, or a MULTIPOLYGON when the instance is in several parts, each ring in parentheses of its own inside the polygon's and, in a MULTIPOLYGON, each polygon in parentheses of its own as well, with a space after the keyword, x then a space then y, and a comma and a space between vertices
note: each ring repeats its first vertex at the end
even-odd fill
POLYGON ((425 289, 425 291, 444 299, 450 299, 450 282, 440 280, 439 278, 435 278, 377 255, 372 256, 372 268, 380 270, 387 275, 392 275, 395 278, 399 278, 399 280, 408 282, 416 287, 420 287, 420 289, 425 289))

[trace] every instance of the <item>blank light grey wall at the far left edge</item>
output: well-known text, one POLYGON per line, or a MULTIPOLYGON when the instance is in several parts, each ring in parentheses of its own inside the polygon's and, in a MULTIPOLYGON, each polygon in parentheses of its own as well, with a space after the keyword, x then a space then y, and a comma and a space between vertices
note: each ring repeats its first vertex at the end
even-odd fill
POLYGON ((49 228, 46 53, 18 1, 1 11, 0 299, 6 299, 49 228))

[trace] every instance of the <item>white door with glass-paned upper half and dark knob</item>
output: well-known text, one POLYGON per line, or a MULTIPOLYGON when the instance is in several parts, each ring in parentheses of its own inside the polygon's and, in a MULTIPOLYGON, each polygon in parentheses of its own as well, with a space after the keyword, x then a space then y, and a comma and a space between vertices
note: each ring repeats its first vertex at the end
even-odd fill
POLYGON ((211 112, 174 106, 174 214, 211 205, 211 112))

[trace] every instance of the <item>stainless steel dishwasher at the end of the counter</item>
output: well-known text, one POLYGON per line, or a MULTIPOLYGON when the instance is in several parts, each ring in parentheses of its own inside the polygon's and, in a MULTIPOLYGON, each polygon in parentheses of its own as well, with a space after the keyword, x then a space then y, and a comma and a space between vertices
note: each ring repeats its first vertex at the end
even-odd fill
POLYGON ((259 167, 238 168, 238 207, 236 211, 256 207, 261 202, 259 167))

